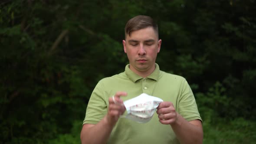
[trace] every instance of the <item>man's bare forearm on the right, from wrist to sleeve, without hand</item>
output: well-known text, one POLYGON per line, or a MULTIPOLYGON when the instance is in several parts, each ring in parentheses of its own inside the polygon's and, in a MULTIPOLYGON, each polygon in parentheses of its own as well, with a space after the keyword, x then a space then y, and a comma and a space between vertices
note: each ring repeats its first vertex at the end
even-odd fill
POLYGON ((193 121, 193 124, 185 120, 178 114, 177 122, 171 124, 171 128, 176 134, 181 144, 202 144, 203 128, 201 121, 193 121))

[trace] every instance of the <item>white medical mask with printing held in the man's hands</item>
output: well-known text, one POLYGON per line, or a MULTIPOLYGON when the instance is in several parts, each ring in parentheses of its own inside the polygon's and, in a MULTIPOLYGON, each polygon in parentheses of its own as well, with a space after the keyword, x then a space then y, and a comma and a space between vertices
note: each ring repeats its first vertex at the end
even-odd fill
POLYGON ((121 118, 128 118, 140 123, 146 123, 151 120, 156 108, 162 101, 161 98, 143 93, 135 98, 124 101, 127 115, 121 116, 121 118))

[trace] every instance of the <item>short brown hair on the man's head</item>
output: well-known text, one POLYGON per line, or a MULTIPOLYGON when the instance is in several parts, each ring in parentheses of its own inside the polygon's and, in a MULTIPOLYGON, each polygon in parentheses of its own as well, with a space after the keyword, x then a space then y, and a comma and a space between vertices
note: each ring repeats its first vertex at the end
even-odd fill
POLYGON ((131 36, 132 32, 147 27, 153 27, 158 36, 158 25, 150 16, 139 15, 131 18, 125 25, 125 39, 127 35, 131 36))

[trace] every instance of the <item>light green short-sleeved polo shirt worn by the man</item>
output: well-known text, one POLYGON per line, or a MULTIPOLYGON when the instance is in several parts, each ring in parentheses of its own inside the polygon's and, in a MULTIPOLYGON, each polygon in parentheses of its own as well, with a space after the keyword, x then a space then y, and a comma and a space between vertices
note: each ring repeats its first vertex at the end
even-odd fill
MULTIPOLYGON (((186 79, 172 75, 159 69, 155 64, 154 72, 143 78, 129 69, 98 82, 89 100, 83 124, 97 124, 107 114, 108 98, 115 92, 125 91, 123 101, 146 93, 163 101, 171 101, 176 111, 187 121, 200 118, 194 95, 186 79)), ((126 112, 124 113, 126 115, 126 112)), ((119 118, 109 139, 108 144, 179 144, 170 125, 161 124, 155 113, 148 123, 119 118)))

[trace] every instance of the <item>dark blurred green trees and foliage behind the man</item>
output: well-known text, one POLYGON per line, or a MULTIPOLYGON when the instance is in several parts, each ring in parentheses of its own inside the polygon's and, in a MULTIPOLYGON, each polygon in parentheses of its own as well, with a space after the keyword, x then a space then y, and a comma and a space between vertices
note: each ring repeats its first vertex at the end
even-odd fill
POLYGON ((255 0, 1 0, 0 144, 79 144, 93 88, 128 64, 136 15, 158 22, 157 63, 190 84, 204 144, 254 144, 255 14, 255 0))

